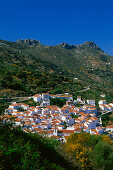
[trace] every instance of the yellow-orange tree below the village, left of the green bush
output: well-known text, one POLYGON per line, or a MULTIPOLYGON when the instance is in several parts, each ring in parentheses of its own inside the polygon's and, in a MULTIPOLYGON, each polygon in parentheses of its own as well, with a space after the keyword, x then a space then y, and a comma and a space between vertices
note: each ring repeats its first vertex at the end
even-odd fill
POLYGON ((82 169, 90 169, 92 163, 89 159, 91 148, 84 146, 85 141, 90 138, 89 134, 72 134, 68 137, 67 142, 64 144, 64 150, 67 155, 79 162, 82 169))

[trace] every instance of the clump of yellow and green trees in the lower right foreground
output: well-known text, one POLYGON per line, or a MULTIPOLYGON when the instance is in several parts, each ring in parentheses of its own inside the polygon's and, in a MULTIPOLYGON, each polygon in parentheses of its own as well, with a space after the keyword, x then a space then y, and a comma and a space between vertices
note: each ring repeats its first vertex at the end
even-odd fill
POLYGON ((107 135, 72 134, 63 146, 81 169, 113 170, 113 142, 107 135))

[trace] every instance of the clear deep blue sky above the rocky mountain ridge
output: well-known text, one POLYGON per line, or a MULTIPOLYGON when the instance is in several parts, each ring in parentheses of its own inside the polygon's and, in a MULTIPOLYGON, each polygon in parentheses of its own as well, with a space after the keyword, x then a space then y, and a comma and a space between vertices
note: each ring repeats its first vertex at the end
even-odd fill
POLYGON ((113 56, 113 0, 0 0, 0 39, 94 41, 113 56))

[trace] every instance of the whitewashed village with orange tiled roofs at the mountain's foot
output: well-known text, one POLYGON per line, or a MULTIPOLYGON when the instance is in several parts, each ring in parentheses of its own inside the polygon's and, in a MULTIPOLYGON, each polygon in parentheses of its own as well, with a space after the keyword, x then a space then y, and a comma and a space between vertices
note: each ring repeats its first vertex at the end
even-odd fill
MULTIPOLYGON (((66 137, 72 133, 86 132, 101 135, 113 132, 113 125, 102 126, 95 100, 82 100, 81 96, 73 100, 73 96, 68 93, 56 95, 43 93, 31 98, 37 102, 36 107, 12 102, 5 109, 4 115, 1 115, 3 123, 12 122, 14 127, 21 127, 26 133, 53 137, 61 142, 66 142, 66 137), (66 104, 61 108, 50 105, 50 98, 66 99, 66 104)), ((105 100, 100 100, 98 104, 101 114, 113 111, 113 103, 107 104, 105 100)))

